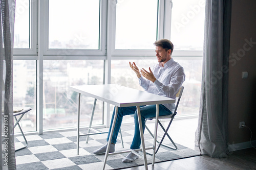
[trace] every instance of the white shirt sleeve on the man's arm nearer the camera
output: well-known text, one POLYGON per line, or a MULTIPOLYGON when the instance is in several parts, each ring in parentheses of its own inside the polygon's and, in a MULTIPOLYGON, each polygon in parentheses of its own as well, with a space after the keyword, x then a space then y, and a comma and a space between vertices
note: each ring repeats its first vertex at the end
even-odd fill
POLYGON ((183 67, 179 67, 170 78, 169 84, 164 85, 160 81, 156 80, 153 84, 155 87, 165 94, 167 97, 174 97, 179 91, 182 83, 185 81, 185 74, 183 67))

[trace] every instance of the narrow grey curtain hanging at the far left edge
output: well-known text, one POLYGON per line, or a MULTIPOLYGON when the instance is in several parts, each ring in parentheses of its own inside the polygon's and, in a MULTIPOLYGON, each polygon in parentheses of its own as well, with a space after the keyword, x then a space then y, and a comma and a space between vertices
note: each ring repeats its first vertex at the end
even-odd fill
POLYGON ((0 5, 1 169, 16 169, 12 103, 15 0, 0 0, 0 5))

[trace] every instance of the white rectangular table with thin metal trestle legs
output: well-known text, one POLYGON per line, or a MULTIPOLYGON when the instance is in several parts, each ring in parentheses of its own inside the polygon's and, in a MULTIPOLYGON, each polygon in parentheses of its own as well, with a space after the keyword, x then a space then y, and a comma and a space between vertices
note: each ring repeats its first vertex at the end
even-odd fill
MULTIPOLYGON (((113 120, 113 125, 110 132, 110 140, 108 141, 108 147, 106 149, 104 162, 103 162, 103 169, 105 168, 106 159, 108 158, 108 155, 114 155, 114 154, 120 154, 120 153, 128 153, 133 152, 137 154, 135 151, 142 151, 143 152, 143 158, 144 158, 144 165, 145 169, 147 169, 147 159, 146 159, 146 150, 153 149, 153 161, 152 165, 155 163, 155 150, 156 150, 156 136, 157 136, 157 122, 158 122, 158 113, 159 113, 159 104, 165 104, 165 103, 175 103, 175 99, 166 98, 164 96, 148 93, 141 90, 136 90, 129 87, 124 87, 116 84, 105 84, 105 85, 81 85, 81 86, 69 86, 70 90, 76 91, 79 93, 78 97, 78 122, 77 122, 77 154, 79 154, 79 136, 85 136, 85 135, 92 135, 92 134, 101 134, 102 132, 96 132, 96 133, 90 133, 90 128, 92 124, 92 117, 94 114, 94 109, 96 105, 96 100, 100 100, 112 105, 115 105, 115 115, 113 120), (92 117, 91 122, 88 129, 88 134, 79 135, 79 122, 80 122, 80 95, 85 94, 87 96, 90 96, 95 99, 93 111, 92 111, 92 117), (140 107, 141 105, 156 105, 157 112, 156 112, 156 123, 155 123, 155 138, 154 138, 154 145, 153 147, 147 147, 145 148, 144 143, 144 137, 143 137, 143 130, 142 130, 142 124, 141 124, 141 118, 140 118, 140 107), (140 137, 141 137, 141 145, 142 149, 137 150, 128 150, 128 151, 122 151, 122 152, 114 152, 109 153, 109 146, 111 143, 113 130, 116 123, 116 117, 117 117, 117 111, 119 107, 128 107, 128 106, 136 106, 137 112, 138 112, 138 119, 139 119, 139 129, 140 129, 140 137)), ((107 133, 107 132, 103 132, 107 133)), ((87 138, 88 141, 88 138, 87 138)))

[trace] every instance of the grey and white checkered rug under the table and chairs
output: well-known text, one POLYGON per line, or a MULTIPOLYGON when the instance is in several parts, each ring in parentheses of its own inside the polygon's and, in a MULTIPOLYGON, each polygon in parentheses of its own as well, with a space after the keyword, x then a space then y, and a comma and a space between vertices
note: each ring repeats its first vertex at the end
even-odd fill
MULTIPOLYGON (((101 129, 106 131, 106 129, 101 129)), ((134 127, 122 127, 124 148, 118 136, 116 151, 128 150, 133 138, 134 127)), ((81 131, 80 134, 87 133, 81 131)), ((153 138, 145 131, 146 147, 152 146, 153 138)), ((76 131, 48 133, 44 135, 26 135, 28 147, 15 152, 17 169, 102 169, 104 154, 94 155, 92 152, 106 143, 106 134, 91 135, 86 143, 86 136, 80 137, 79 155, 76 153, 76 131)), ((174 139, 175 141, 175 139, 174 139)), ((177 144, 177 143, 176 143, 177 144)), ((15 137, 15 148, 25 145, 22 136, 15 137)), ((200 155, 199 152, 177 144, 178 150, 174 151, 166 147, 160 147, 155 157, 155 162, 181 159, 200 155)), ((140 152, 142 154, 142 152, 140 152)), ((120 169, 143 165, 143 158, 134 162, 123 163, 122 159, 127 155, 110 155, 105 169, 120 169)), ((147 162, 152 162, 152 156, 147 154, 147 162)))

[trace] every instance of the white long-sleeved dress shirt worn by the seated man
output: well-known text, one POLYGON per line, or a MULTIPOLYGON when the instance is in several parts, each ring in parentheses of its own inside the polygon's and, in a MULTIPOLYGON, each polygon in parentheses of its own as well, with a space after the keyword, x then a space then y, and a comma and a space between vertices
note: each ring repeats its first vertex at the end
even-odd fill
MULTIPOLYGON (((147 92, 166 96, 167 98, 176 98, 182 83, 185 81, 185 73, 182 66, 175 62, 174 59, 167 61, 164 66, 156 64, 151 68, 156 81, 153 83, 144 77, 139 78, 139 84, 147 92)), ((174 111, 175 104, 163 104, 170 111, 174 111)))

